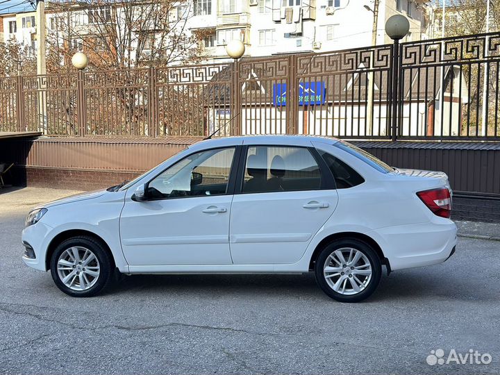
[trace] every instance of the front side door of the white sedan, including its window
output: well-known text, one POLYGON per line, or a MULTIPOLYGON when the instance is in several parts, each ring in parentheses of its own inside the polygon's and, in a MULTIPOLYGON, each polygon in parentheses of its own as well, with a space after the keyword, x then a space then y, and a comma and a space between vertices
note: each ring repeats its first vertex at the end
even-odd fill
POLYGON ((149 183, 149 201, 128 200, 120 218, 131 266, 226 265, 235 147, 194 153, 149 183))

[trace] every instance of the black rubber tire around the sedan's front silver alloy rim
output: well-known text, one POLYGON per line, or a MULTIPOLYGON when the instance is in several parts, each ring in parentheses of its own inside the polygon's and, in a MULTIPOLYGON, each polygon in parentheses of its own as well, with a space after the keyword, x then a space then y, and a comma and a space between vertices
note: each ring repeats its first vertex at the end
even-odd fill
POLYGON ((99 292, 113 281, 113 271, 115 269, 113 258, 110 256, 106 246, 102 244, 101 241, 90 236, 77 236, 61 242, 52 253, 50 265, 54 283, 56 283, 60 290, 72 297, 93 297, 99 294, 99 292), (82 247, 92 251, 95 258, 99 261, 99 276, 95 278, 95 282, 92 279, 93 285, 87 290, 74 290, 69 288, 63 283, 58 273, 58 261, 61 254, 72 247, 82 247))

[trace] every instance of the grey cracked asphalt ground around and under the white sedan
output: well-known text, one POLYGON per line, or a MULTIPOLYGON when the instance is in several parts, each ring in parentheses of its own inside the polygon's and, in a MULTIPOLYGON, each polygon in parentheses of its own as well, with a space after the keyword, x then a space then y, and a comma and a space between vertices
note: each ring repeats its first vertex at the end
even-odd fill
POLYGON ((28 210, 70 193, 0 191, 0 374, 500 374, 498 241, 460 238, 356 304, 312 274, 127 276, 74 299, 20 244, 28 210), (437 349, 492 360, 428 365, 437 349))

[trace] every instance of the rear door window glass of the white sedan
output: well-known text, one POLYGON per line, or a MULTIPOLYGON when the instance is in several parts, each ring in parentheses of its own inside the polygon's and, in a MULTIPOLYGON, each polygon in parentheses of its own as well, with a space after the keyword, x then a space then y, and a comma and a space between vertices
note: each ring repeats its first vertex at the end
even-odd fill
POLYGON ((249 147, 242 192, 319 190, 322 176, 303 147, 249 147))

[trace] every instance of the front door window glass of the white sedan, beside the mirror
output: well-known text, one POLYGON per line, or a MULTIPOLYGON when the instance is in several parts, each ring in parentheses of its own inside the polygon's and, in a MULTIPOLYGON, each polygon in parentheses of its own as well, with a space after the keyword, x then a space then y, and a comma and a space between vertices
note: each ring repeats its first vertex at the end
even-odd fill
POLYGON ((169 167, 149 183, 153 199, 226 194, 235 149, 201 151, 169 167))

